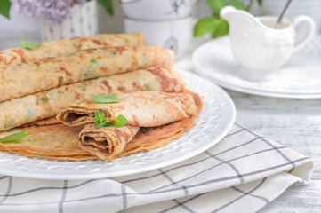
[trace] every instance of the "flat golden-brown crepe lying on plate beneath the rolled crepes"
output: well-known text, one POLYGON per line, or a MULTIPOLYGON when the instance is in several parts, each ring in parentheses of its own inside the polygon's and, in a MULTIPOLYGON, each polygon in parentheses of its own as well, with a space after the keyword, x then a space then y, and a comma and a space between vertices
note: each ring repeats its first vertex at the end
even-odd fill
MULTIPOLYGON (((160 127, 142 127, 136 137, 125 145, 124 151, 117 156, 165 146, 174 138, 179 138, 183 131, 189 130, 192 126, 193 118, 189 117, 180 122, 172 122, 160 127)), ((20 132, 21 130, 27 130, 32 135, 14 142, 0 143, 0 151, 48 160, 96 160, 98 159, 97 156, 87 153, 76 146, 75 138, 82 128, 53 124, 50 126, 30 126, 3 131, 0 132, 0 138, 20 132)))

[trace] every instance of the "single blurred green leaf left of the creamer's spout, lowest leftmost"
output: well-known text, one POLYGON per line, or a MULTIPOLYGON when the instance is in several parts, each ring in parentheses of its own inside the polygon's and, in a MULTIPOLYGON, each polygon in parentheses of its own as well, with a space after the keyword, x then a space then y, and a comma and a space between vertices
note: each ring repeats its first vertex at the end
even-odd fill
POLYGON ((214 17, 205 17, 197 21, 194 27, 194 36, 203 36, 206 33, 213 33, 217 28, 218 20, 214 17))

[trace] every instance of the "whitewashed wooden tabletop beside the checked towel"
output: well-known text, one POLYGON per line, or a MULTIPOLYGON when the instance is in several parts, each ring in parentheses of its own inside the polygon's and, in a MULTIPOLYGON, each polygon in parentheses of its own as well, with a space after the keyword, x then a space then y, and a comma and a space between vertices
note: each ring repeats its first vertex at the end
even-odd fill
MULTIPOLYGON (((175 67, 194 72, 191 53, 179 59, 175 67)), ((316 162, 309 185, 292 185, 260 212, 320 213, 321 99, 277 99, 226 91, 236 105, 237 123, 289 146, 316 162)))

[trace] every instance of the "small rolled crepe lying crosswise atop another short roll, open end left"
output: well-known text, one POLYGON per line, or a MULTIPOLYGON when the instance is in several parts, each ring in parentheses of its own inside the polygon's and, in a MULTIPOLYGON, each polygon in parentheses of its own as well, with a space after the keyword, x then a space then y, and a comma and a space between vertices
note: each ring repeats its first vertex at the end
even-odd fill
POLYGON ((191 92, 167 93, 162 91, 138 91, 118 95, 119 103, 99 104, 79 101, 64 108, 57 119, 69 126, 92 123, 95 111, 105 114, 107 120, 116 122, 124 115, 128 125, 155 127, 183 120, 197 114, 197 106, 191 92))

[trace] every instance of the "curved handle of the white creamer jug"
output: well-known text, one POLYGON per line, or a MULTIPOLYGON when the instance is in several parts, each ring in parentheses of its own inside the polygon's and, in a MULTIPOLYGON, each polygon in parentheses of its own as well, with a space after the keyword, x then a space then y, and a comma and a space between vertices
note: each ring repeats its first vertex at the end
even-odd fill
POLYGON ((298 51, 299 49, 301 49, 309 41, 309 39, 314 35, 316 31, 314 21, 311 18, 309 18, 309 16, 305 15, 299 15, 292 20, 294 28, 296 28, 297 25, 302 21, 307 22, 308 31, 306 32, 305 36, 301 39, 301 41, 294 44, 294 51, 298 51))

